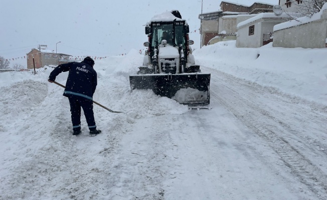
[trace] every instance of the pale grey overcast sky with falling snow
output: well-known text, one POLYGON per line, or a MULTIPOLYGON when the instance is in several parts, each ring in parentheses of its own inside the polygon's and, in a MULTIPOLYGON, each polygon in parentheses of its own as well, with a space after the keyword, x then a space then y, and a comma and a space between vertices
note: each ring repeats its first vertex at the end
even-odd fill
MULTIPOLYGON (((278 0, 228 0, 251 5, 278 0)), ((203 12, 220 9, 221 0, 203 0, 203 12)), ((3 0, 0 12, 0 55, 25 56, 39 44, 74 56, 110 56, 142 49, 144 24, 153 15, 178 9, 190 25, 193 48, 200 47, 201 0, 3 0), (194 32, 196 30, 196 32, 194 32)), ((11 60, 23 63, 26 60, 11 60)))

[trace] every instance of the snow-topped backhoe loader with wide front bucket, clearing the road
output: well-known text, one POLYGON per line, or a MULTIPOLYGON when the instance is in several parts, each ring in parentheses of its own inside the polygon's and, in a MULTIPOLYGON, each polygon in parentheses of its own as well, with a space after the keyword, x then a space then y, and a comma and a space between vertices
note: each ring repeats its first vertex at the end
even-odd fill
POLYGON ((181 104, 205 106, 210 103, 210 73, 195 64, 189 39, 189 25, 178 10, 155 15, 146 25, 148 41, 143 66, 129 75, 133 89, 152 89, 181 104))

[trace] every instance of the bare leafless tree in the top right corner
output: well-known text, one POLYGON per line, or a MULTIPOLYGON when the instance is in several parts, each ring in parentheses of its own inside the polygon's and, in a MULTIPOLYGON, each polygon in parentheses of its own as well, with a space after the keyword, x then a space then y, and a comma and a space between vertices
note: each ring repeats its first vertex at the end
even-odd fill
POLYGON ((297 10, 303 15, 311 17, 314 13, 321 10, 327 0, 300 0, 302 3, 294 3, 297 10))

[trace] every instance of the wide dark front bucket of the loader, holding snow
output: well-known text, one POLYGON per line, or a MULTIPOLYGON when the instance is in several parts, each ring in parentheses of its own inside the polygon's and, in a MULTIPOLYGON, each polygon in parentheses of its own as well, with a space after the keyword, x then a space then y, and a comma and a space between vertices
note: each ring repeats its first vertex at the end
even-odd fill
POLYGON ((152 89, 160 96, 189 106, 210 103, 210 73, 138 74, 129 76, 130 88, 152 89))

